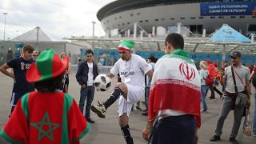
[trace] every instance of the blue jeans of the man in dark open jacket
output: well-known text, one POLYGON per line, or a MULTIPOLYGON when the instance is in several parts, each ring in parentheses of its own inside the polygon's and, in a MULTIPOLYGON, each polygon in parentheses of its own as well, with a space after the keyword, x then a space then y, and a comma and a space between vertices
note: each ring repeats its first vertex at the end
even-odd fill
POLYGON ((86 102, 86 118, 90 118, 90 106, 94 100, 94 86, 86 86, 85 88, 81 88, 80 90, 80 100, 79 100, 79 108, 83 114, 83 108, 86 102))

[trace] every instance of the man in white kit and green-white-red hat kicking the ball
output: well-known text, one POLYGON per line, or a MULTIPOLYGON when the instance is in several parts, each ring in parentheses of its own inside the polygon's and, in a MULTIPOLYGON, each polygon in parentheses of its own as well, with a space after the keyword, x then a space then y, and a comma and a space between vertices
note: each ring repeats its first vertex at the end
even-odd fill
POLYGON ((132 104, 138 102, 144 95, 144 75, 147 74, 149 77, 153 75, 150 66, 142 57, 131 54, 132 48, 134 48, 134 42, 121 41, 118 46, 118 52, 121 58, 114 64, 107 76, 113 78, 120 74, 122 82, 117 83, 114 91, 106 102, 98 106, 91 106, 91 110, 98 114, 98 117, 105 118, 107 108, 119 98, 119 125, 121 126, 122 134, 127 144, 134 143, 133 138, 130 136, 130 128, 128 125, 128 117, 132 104))

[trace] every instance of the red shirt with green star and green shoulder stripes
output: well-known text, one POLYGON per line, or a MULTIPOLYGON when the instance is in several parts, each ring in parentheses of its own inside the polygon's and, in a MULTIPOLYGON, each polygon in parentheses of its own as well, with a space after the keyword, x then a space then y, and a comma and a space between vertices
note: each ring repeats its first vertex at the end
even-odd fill
POLYGON ((1 131, 11 143, 79 143, 90 129, 69 94, 31 92, 22 96, 1 131))

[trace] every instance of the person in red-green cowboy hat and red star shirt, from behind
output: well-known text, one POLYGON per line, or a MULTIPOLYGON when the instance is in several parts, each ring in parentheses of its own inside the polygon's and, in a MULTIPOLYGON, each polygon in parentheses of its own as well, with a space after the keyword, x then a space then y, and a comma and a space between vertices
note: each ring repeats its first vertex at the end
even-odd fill
POLYGON ((42 51, 26 72, 38 91, 22 96, 0 135, 10 143, 78 144, 90 129, 74 98, 62 93, 68 58, 52 49, 42 51))

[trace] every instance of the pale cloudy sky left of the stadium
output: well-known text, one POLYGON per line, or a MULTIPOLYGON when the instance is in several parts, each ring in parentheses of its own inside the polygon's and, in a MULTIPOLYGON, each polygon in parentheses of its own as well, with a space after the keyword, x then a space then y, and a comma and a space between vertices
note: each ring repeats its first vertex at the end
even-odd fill
POLYGON ((0 39, 15 38, 40 26, 52 40, 71 36, 104 36, 96 14, 102 6, 114 0, 0 0, 0 39))

